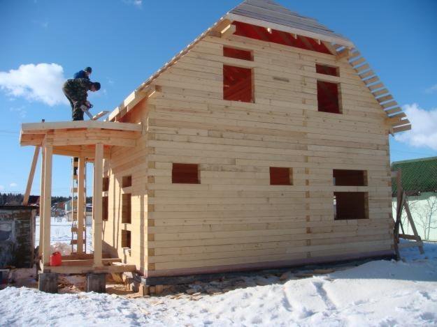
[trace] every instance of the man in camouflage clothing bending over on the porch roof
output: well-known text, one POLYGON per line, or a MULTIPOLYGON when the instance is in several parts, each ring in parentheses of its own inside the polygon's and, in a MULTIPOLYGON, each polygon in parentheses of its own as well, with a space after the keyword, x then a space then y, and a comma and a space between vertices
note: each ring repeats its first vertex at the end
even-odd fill
POLYGON ((80 107, 85 105, 89 108, 87 91, 95 92, 99 91, 99 89, 99 82, 91 82, 87 78, 68 79, 64 83, 62 91, 64 91, 66 98, 69 99, 73 111, 73 121, 83 121, 83 110, 80 107))

